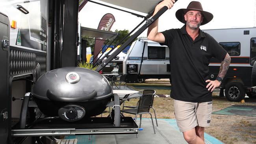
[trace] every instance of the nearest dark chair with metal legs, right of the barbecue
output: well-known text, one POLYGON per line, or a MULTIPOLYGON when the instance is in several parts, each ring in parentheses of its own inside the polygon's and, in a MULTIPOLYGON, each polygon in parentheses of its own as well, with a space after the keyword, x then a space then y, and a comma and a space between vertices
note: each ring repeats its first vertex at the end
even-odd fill
POLYGON ((135 122, 137 119, 137 115, 139 115, 139 118, 140 118, 139 128, 141 128, 142 114, 146 114, 146 113, 150 114, 154 133, 156 134, 152 114, 149 112, 150 105, 151 103, 153 103, 152 102, 153 100, 154 100, 154 94, 143 94, 141 97, 139 97, 139 101, 137 102, 137 106, 135 108, 132 107, 131 109, 124 109, 124 110, 121 110, 121 112, 135 114, 135 122))

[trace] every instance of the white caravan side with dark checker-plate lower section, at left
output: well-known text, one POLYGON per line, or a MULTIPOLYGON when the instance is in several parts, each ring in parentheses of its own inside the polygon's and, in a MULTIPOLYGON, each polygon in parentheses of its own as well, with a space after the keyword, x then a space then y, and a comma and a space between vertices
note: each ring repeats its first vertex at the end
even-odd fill
POLYGON ((10 24, 16 22, 16 28, 10 28, 10 75, 32 72, 36 80, 46 72, 48 0, 4 0, 0 9, 10 24))

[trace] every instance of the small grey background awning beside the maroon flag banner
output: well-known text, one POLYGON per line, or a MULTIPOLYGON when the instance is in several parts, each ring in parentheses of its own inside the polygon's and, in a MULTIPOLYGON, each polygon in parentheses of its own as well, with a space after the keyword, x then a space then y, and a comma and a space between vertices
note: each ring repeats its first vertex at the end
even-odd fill
POLYGON ((86 28, 81 27, 82 37, 96 37, 98 39, 105 39, 105 40, 112 40, 114 39, 118 33, 112 32, 112 31, 104 31, 104 30, 97 30, 93 28, 86 28))

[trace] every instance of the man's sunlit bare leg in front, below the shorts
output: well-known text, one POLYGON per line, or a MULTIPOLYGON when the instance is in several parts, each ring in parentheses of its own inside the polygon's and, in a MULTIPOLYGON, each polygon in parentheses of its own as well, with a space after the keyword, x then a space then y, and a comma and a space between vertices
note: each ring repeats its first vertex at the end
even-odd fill
POLYGON ((183 137, 189 144, 205 144, 204 141, 197 136, 195 128, 190 129, 189 131, 184 131, 183 137))

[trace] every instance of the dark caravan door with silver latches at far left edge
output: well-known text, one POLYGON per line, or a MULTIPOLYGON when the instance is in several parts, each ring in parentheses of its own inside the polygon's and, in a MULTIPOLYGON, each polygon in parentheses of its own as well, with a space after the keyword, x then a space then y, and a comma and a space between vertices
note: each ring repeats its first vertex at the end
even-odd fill
POLYGON ((7 144, 9 127, 9 18, 0 13, 0 140, 1 144, 7 144))

